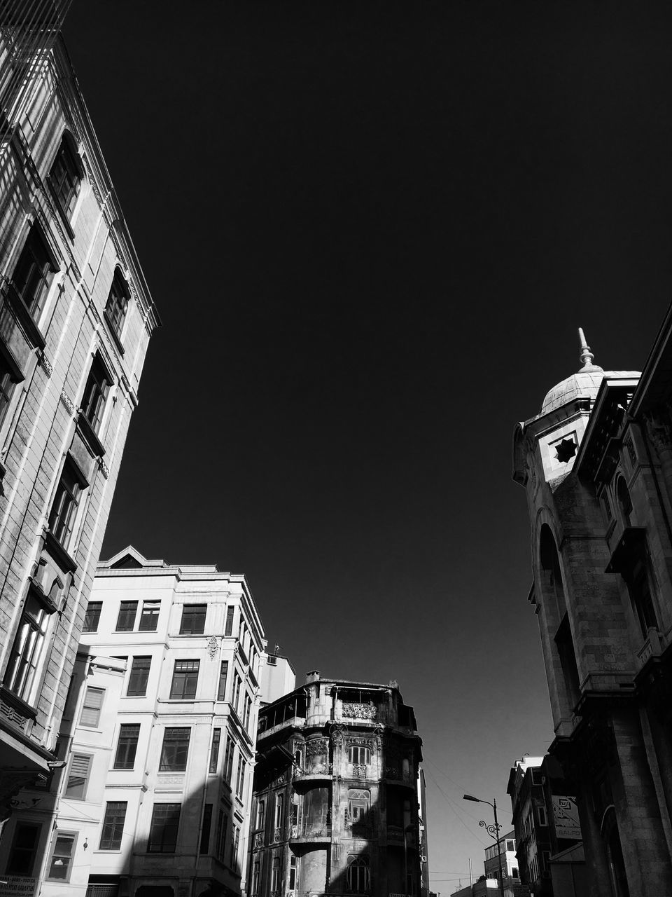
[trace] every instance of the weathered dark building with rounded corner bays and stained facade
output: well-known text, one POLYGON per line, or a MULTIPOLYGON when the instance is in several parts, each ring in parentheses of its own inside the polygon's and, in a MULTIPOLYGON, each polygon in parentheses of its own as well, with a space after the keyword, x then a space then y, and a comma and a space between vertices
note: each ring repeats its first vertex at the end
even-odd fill
POLYGON ((421 740, 396 684, 307 675, 259 715, 249 897, 417 895, 421 740))

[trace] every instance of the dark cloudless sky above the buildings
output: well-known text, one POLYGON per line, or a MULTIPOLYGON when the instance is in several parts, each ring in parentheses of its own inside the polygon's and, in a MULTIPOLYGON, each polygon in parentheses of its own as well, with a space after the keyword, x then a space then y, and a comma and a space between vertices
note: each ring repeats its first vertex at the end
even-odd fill
MULTIPOLYGON (((668 306, 669 4, 75 0, 164 327, 103 554, 246 573, 297 667, 417 710, 433 886, 463 791, 552 738, 516 421, 668 306)), ((489 812, 487 806, 483 807, 489 812)))

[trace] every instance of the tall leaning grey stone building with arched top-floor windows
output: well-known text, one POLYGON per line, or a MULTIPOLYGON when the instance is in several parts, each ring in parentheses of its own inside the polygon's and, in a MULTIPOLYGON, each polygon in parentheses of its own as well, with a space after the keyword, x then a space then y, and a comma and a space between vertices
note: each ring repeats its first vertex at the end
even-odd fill
MULTIPOLYGON (((58 35, 67 5, 0 12, 0 819, 57 762, 159 324, 58 35)), ((29 841, 26 830, 27 858, 29 841)))

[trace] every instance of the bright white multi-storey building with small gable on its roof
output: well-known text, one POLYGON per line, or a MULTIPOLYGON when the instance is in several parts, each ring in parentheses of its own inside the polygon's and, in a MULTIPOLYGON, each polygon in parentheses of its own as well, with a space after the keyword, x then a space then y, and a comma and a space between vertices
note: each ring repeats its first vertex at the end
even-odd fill
POLYGON ((264 645, 243 576, 99 563, 42 897, 245 890, 264 645))

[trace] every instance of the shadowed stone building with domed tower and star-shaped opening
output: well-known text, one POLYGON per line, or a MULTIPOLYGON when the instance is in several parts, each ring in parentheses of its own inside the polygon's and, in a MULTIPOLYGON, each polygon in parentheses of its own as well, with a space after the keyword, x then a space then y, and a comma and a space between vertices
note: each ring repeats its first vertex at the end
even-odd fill
POLYGON ((672 318, 646 367, 582 368, 518 424, 556 738, 590 894, 672 893, 672 318))

